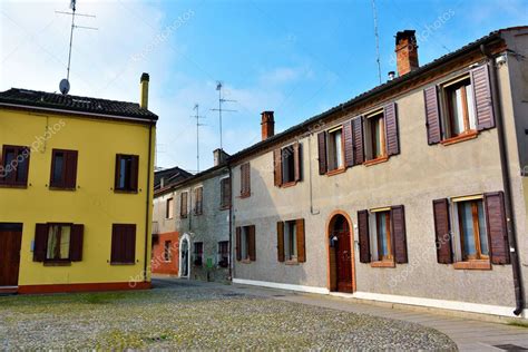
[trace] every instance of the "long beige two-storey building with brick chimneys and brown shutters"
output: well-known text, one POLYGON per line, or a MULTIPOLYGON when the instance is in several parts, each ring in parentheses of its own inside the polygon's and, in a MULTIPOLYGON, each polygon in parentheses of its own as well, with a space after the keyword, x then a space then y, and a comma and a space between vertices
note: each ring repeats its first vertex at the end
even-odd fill
POLYGON ((528 27, 419 66, 228 159, 233 281, 526 317, 528 27), (515 311, 515 313, 514 313, 515 311))

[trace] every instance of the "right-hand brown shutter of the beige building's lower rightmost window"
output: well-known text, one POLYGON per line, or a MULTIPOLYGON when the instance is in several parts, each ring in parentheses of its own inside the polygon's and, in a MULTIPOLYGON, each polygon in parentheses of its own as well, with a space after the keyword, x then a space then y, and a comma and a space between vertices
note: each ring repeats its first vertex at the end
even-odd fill
POLYGON ((503 193, 493 192, 485 194, 485 206, 491 263, 510 264, 503 193))

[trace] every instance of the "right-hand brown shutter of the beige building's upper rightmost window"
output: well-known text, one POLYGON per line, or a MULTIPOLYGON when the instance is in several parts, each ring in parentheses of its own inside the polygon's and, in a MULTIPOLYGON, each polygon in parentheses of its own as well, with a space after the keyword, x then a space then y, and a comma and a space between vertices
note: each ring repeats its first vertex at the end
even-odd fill
POLYGON ((493 101, 491 98, 488 65, 482 65, 471 70, 471 86, 473 88, 477 128, 479 130, 493 128, 493 101))

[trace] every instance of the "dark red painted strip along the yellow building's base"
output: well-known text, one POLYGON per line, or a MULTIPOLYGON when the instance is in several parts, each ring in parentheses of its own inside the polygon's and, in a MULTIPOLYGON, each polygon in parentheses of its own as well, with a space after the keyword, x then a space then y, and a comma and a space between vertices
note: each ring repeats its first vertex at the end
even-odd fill
POLYGON ((148 290, 150 282, 108 282, 82 284, 20 285, 19 294, 148 290))

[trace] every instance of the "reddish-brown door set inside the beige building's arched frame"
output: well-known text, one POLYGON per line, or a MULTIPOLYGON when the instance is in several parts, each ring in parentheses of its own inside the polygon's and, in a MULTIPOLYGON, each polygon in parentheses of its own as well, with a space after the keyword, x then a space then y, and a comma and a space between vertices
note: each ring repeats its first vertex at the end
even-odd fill
POLYGON ((349 223, 344 217, 335 221, 332 237, 335 247, 338 291, 352 293, 352 253, 349 223), (335 241, 336 239, 336 241, 335 241))

